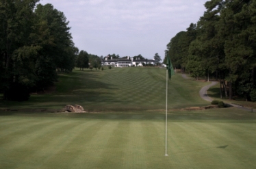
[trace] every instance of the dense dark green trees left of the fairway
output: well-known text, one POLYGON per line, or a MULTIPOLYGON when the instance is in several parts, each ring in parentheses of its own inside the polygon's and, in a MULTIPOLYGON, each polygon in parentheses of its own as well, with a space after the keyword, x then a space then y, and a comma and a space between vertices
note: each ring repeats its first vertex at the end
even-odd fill
POLYGON ((0 1, 0 93, 5 100, 27 100, 30 92, 53 85, 58 71, 88 68, 95 57, 75 47, 63 12, 38 1, 0 1))

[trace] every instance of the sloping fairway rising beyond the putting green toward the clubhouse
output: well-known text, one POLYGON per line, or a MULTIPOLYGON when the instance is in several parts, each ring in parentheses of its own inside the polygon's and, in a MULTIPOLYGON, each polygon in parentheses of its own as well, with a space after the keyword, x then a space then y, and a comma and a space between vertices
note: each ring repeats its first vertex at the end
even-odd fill
MULTIPOLYGON (((177 74, 168 81, 168 109, 207 105, 199 96, 205 83, 183 79, 177 74)), ((59 76, 52 94, 34 94, 26 102, 1 101, 12 109, 60 109, 66 104, 82 105, 88 112, 127 112, 165 109, 164 68, 113 68, 74 70, 59 76)))

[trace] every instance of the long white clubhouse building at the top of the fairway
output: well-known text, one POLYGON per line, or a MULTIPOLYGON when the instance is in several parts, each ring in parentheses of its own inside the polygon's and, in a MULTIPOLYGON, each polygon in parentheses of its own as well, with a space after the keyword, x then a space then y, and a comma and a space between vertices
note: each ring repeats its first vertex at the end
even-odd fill
POLYGON ((111 59, 108 60, 105 57, 105 60, 101 60, 102 66, 113 66, 113 67, 130 67, 130 66, 143 66, 143 65, 155 65, 155 60, 133 60, 133 57, 127 57, 127 59, 120 58, 120 59, 111 59))

